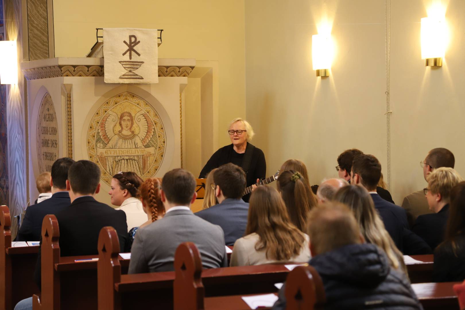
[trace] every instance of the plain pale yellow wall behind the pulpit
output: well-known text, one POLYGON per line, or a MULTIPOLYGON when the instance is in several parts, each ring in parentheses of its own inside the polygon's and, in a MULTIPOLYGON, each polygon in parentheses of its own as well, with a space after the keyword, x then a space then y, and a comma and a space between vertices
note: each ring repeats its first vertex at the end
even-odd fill
MULTIPOLYGON (((54 0, 53 19, 56 57, 86 55, 95 43, 97 27, 164 29, 159 58, 218 63, 216 128, 224 131, 231 119, 245 116, 244 0, 54 0)), ((186 119, 187 125, 192 122, 186 119)), ((217 135, 213 143, 228 141, 227 135, 217 135)))

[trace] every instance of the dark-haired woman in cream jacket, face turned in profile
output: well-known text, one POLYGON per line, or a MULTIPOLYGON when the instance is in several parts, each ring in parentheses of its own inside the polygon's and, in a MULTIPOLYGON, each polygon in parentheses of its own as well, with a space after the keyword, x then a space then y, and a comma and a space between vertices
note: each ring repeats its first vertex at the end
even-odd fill
POLYGON ((142 203, 137 198, 142 182, 142 179, 132 171, 120 171, 112 178, 112 188, 108 194, 112 204, 119 206, 116 210, 123 210, 126 213, 127 231, 146 221, 142 203))

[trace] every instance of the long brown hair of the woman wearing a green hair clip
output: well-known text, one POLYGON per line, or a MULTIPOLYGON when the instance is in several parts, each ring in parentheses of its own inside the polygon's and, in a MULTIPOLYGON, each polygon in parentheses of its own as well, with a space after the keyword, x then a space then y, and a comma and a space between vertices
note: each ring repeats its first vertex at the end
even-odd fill
POLYGON ((278 178, 278 191, 292 223, 305 233, 307 214, 317 204, 306 179, 295 170, 282 171, 278 178))

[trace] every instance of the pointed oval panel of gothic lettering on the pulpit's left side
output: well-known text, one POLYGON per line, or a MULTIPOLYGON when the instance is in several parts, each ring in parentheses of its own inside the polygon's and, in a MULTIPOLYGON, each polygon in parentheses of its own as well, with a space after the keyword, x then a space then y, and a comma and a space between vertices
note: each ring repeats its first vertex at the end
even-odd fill
POLYGON ((40 102, 37 119, 37 158, 40 173, 52 170, 53 162, 58 159, 58 147, 57 117, 52 98, 46 92, 40 102))

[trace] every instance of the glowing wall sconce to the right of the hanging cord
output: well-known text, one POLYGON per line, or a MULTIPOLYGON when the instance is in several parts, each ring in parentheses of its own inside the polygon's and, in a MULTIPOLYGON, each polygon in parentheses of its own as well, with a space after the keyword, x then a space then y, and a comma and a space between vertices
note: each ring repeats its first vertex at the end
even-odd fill
POLYGON ((425 66, 442 66, 446 38, 444 17, 421 19, 421 59, 425 59, 425 66))

